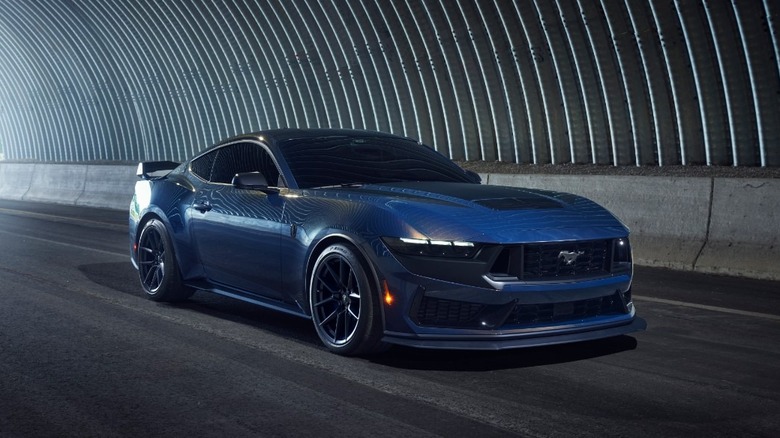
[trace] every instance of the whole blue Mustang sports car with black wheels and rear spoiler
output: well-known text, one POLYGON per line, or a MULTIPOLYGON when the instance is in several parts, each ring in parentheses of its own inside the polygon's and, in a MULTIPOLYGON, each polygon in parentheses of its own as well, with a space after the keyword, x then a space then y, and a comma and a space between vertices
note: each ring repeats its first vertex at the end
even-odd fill
POLYGON ((205 290, 310 318, 344 355, 503 349, 645 328, 628 230, 588 199, 487 186, 417 141, 280 129, 143 162, 130 205, 149 298, 205 290))

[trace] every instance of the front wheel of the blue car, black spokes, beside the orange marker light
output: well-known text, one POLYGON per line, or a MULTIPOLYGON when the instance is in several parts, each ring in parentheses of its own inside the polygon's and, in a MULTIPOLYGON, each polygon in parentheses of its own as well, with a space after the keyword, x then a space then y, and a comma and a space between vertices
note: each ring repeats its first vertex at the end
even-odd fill
POLYGON ((309 301, 314 327, 329 350, 353 356, 383 349, 379 294, 352 246, 338 243, 320 254, 309 301))

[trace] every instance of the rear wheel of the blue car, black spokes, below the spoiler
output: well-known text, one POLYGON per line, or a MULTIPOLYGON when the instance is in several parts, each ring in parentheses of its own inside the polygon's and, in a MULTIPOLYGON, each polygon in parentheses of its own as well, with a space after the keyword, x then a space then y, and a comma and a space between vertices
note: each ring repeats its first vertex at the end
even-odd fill
POLYGON ((171 238, 158 219, 147 222, 138 239, 138 274, 154 301, 182 301, 194 292, 182 284, 171 238))

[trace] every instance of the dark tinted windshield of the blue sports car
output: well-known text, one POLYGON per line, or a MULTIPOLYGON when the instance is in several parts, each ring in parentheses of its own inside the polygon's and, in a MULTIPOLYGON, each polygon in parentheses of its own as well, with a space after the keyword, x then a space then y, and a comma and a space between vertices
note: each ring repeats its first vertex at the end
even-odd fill
POLYGON ((329 136, 280 144, 298 187, 474 181, 433 149, 399 137, 329 136))

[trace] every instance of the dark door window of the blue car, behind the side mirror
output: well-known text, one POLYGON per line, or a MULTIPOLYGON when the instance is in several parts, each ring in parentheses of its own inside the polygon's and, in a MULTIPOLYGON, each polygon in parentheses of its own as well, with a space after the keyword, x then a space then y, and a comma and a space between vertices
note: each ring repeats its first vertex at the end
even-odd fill
POLYGON ((237 173, 260 172, 270 186, 279 185, 279 170, 262 146, 254 143, 238 143, 217 150, 218 155, 211 182, 230 184, 237 173))

